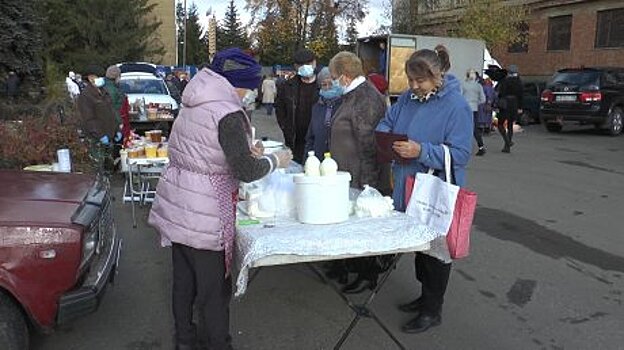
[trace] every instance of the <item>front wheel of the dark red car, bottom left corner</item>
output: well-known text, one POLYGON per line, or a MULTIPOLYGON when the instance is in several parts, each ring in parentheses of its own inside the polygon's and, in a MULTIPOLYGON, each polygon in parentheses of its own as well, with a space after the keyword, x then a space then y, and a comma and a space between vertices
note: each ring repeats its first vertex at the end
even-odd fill
POLYGON ((0 344, 5 350, 28 349, 28 326, 22 310, 0 292, 0 344))

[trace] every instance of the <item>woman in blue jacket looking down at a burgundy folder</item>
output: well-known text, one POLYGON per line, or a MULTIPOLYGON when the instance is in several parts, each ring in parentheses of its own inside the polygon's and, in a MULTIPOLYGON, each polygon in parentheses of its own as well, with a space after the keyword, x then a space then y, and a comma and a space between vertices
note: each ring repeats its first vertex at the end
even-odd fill
MULTIPOLYGON (((409 176, 430 168, 444 168, 443 144, 451 151, 455 183, 464 185, 472 145, 472 110, 461 95, 459 80, 445 74, 449 68, 449 53, 442 45, 435 50, 414 52, 405 63, 410 89, 377 126, 377 131, 405 134, 408 138, 393 145, 404 160, 392 165, 392 197, 397 210, 405 211, 405 182, 409 176)), ((444 178, 443 171, 438 173, 444 178)), ((417 299, 399 305, 401 311, 416 314, 402 327, 406 333, 421 333, 442 321, 451 259, 444 237, 439 240, 432 242, 432 247, 442 249, 416 253, 416 278, 421 283, 421 293, 417 299)))

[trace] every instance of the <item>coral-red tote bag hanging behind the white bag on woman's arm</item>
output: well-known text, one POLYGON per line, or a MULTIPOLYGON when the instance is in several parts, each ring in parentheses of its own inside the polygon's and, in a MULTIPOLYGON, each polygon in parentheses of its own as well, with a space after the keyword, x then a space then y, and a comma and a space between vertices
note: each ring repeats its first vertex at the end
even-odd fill
MULTIPOLYGON (((405 205, 409 203, 415 185, 415 177, 408 176, 405 180, 405 205)), ((470 231, 477 208, 477 194, 464 188, 459 189, 451 227, 446 235, 449 254, 453 259, 468 256, 470 250, 470 231)))

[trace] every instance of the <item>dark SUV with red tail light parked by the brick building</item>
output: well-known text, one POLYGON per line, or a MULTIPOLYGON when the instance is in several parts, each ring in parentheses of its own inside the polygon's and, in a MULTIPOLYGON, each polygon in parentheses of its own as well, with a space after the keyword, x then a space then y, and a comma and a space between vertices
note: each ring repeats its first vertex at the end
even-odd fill
POLYGON ((562 69, 542 92, 540 117, 551 132, 577 122, 618 135, 623 115, 624 68, 562 69))

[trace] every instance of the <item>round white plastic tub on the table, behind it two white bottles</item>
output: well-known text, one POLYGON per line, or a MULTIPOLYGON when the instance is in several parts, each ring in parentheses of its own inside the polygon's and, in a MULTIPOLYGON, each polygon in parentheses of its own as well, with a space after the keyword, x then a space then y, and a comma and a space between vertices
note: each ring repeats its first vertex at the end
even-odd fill
POLYGON ((351 174, 335 176, 295 175, 297 219, 304 224, 336 224, 349 219, 349 182, 351 174))

